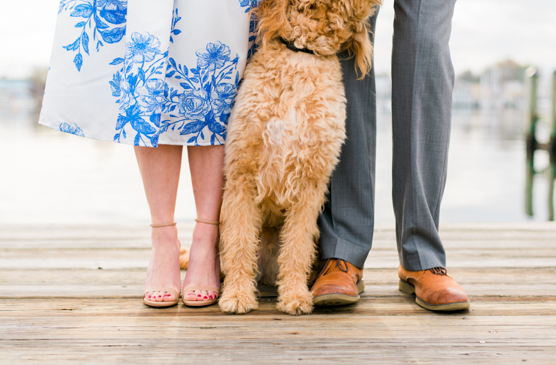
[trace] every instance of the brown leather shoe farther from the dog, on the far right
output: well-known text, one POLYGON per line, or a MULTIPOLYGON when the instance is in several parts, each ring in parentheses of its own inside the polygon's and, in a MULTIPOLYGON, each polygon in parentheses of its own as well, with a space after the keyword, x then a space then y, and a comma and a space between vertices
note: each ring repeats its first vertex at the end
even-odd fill
POLYGON ((464 289, 448 275, 445 268, 408 271, 399 266, 399 288, 408 294, 415 293, 415 302, 431 311, 459 311, 471 303, 464 289))

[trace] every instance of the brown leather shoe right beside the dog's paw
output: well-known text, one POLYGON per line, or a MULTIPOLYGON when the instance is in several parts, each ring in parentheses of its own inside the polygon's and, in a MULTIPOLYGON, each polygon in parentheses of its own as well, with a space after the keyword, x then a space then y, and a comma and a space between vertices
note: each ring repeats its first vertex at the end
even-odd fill
POLYGON ((365 289, 363 270, 341 259, 327 259, 311 288, 313 305, 348 305, 365 289))

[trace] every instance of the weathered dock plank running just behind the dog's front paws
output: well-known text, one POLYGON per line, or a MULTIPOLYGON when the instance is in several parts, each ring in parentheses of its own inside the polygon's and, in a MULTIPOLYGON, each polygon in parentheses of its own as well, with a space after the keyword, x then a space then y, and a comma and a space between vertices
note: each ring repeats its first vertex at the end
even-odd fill
MULTIPOLYGON (((182 278, 185 276, 182 272, 182 278)), ((0 298, 140 298, 145 269, 0 269, 0 298)), ((469 295, 556 295, 556 268, 450 269, 469 295)), ((402 295, 395 269, 366 269, 363 297, 402 295)), ((264 288, 261 295, 275 295, 264 288)))

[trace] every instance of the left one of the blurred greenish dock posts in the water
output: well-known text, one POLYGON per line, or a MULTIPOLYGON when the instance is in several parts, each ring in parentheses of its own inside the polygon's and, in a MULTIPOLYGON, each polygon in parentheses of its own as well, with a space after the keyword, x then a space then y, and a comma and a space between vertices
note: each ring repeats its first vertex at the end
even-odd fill
POLYGON ((539 74, 536 67, 529 67, 525 72, 525 143, 527 149, 525 180, 525 213, 533 216, 533 179, 534 152, 537 149, 537 83, 539 74))

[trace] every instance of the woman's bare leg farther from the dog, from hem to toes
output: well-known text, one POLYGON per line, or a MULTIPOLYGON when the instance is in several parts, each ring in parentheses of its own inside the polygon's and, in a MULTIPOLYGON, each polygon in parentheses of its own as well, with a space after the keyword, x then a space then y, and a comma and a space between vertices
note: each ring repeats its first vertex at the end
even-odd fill
MULTIPOLYGON (((151 219, 155 225, 174 222, 182 152, 182 146, 135 147, 151 219)), ((179 291, 179 248, 176 226, 152 229, 152 253, 146 288, 170 286, 179 291)), ((145 294, 145 298, 157 302, 177 299, 172 293, 158 291, 145 294)))

